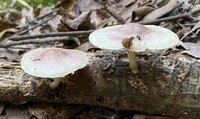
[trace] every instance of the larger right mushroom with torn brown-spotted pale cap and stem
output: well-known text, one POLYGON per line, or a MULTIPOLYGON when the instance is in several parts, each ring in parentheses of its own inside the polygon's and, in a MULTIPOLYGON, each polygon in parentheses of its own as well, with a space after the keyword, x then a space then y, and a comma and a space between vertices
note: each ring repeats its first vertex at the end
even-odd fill
POLYGON ((98 29, 90 34, 89 41, 101 49, 126 49, 131 71, 138 72, 136 52, 170 48, 179 42, 178 36, 163 27, 129 23, 98 29))

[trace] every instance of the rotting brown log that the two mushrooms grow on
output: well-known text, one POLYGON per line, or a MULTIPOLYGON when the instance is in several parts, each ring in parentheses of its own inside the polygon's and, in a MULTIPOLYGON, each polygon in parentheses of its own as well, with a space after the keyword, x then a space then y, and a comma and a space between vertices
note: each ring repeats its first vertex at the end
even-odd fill
POLYGON ((200 116, 200 61, 170 51, 138 55, 133 74, 123 51, 88 53, 89 64, 56 89, 50 79, 25 74, 19 64, 1 62, 0 101, 100 105, 167 116, 200 116))

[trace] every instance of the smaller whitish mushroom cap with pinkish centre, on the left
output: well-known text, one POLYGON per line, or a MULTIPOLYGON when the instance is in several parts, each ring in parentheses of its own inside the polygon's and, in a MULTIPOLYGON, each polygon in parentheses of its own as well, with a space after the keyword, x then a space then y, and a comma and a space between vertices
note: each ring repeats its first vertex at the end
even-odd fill
POLYGON ((38 48, 27 52, 21 60, 21 68, 28 74, 42 78, 64 77, 85 67, 86 54, 78 50, 38 48))

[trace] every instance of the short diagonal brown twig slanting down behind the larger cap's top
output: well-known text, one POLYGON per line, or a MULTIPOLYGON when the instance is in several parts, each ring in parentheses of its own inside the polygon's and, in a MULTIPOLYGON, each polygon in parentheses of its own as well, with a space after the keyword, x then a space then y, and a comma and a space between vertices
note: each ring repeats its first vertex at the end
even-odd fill
POLYGON ((116 12, 114 12, 110 7, 105 8, 105 10, 111 15, 113 16, 120 24, 125 24, 126 21, 119 16, 116 12))

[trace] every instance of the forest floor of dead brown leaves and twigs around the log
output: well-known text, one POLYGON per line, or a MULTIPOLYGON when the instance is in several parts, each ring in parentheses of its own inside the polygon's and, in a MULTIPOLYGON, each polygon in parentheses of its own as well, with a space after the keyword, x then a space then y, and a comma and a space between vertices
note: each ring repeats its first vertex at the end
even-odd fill
MULTIPOLYGON (((23 0, 18 2, 23 9, 15 9, 16 1, 13 0, 0 12, 1 66, 6 62, 19 63, 23 53, 39 47, 95 52, 99 49, 88 41, 91 32, 107 26, 133 22, 170 29, 182 41, 180 47, 183 47, 183 53, 200 58, 199 0, 60 0, 54 6, 37 8, 23 0), (60 32, 64 34, 61 35, 60 32)), ((0 103, 0 113, 1 119, 177 118, 151 115, 137 110, 118 111, 87 104, 30 102, 14 105, 6 100, 0 103)))

